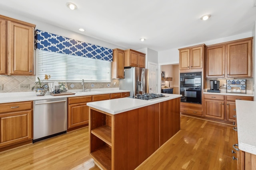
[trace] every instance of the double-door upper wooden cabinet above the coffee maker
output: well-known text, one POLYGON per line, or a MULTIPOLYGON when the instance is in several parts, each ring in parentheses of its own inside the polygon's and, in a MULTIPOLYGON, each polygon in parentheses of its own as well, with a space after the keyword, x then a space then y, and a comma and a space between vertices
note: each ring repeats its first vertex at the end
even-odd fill
POLYGON ((206 78, 252 77, 252 38, 206 48, 206 78))

